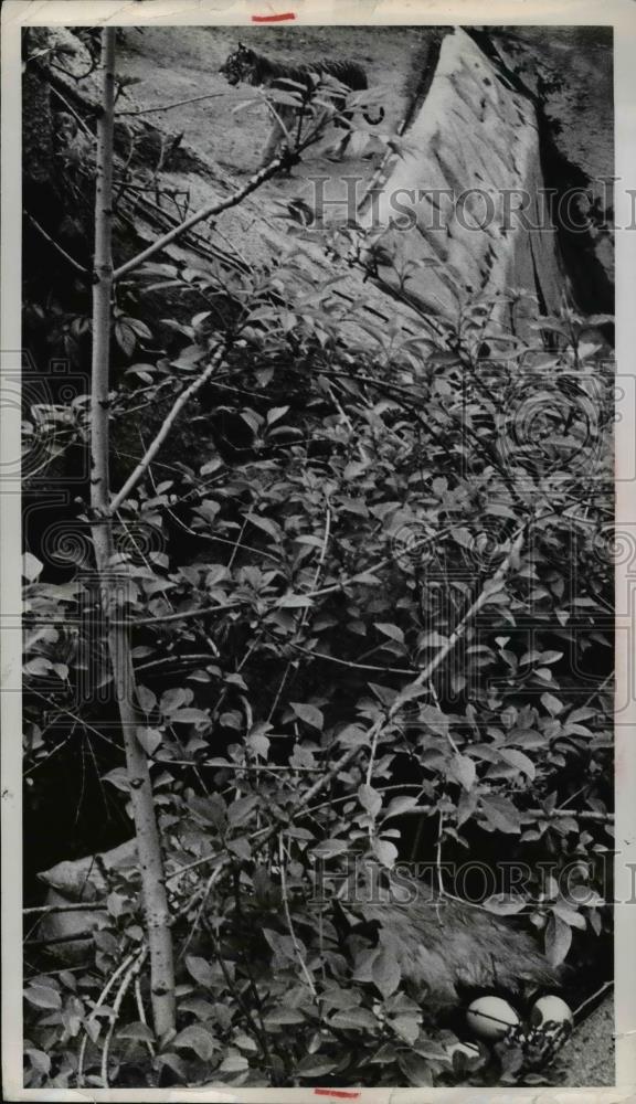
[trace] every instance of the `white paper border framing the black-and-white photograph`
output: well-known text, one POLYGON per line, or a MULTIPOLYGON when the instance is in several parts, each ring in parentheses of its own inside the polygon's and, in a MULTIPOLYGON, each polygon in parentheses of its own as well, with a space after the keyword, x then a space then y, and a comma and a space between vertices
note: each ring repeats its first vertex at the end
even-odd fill
MULTIPOLYGON (((616 178, 616 362, 621 376, 636 376, 636 0, 6 0, 2 6, 2 285, 1 378, 14 376, 21 355, 21 134, 20 40, 24 26, 63 25, 253 25, 254 15, 293 12, 301 25, 608 25, 614 28, 616 178)), ((636 381, 635 381, 636 382, 636 381)), ((616 401, 616 527, 636 522, 636 486, 622 479, 633 452, 634 388, 616 401), (622 459, 623 458, 623 459, 622 459)), ((22 809, 20 420, 14 403, 0 399, 0 597, 2 646, 2 1081, 10 1101, 201 1101, 236 1104, 305 1104, 316 1090, 29 1090, 22 1086, 22 809), (9 475, 4 473, 9 471, 9 475)), ((616 588, 629 586, 627 564, 616 569, 616 588)), ((636 603, 632 598, 632 605, 636 603)), ((621 606, 619 608, 623 608, 621 606)), ((636 614, 636 608, 635 608, 636 614)), ((487 1104, 537 1102, 600 1104, 636 1097, 636 688, 634 617, 616 620, 616 638, 630 646, 616 652, 615 718, 616 849, 615 1032, 616 1084, 586 1089, 391 1089, 347 1093, 359 1104, 487 1104)), ((320 1091, 319 1098, 341 1095, 320 1091)))

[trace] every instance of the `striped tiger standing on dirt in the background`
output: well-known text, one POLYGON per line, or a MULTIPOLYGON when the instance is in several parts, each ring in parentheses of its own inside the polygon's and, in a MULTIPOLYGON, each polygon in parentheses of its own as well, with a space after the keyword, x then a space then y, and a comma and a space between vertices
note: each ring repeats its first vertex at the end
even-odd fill
MULTIPOLYGON (((257 88, 273 88, 277 92, 287 93, 296 93, 298 91, 294 87, 295 84, 304 85, 307 88, 308 97, 322 77, 332 77, 339 84, 350 88, 351 92, 364 92, 369 87, 367 73, 358 62, 328 61, 324 59, 310 65, 286 65, 283 62, 271 61, 264 54, 258 54, 255 50, 244 46, 242 42, 239 43, 236 50, 233 50, 229 54, 219 72, 231 85, 243 83, 257 88), (290 85, 287 82, 294 82, 294 84, 290 85)), ((350 123, 353 112, 344 110, 344 96, 331 95, 331 103, 340 116, 335 119, 335 126, 347 130, 338 147, 337 160, 341 160, 343 157, 352 134, 348 123, 350 123)), ((269 164, 275 157, 278 147, 298 115, 298 110, 297 107, 276 104, 274 126, 261 159, 262 168, 269 164)), ((384 108, 380 107, 378 109, 377 117, 373 117, 368 110, 362 109, 362 116, 367 123, 375 127, 384 118, 384 108)))

